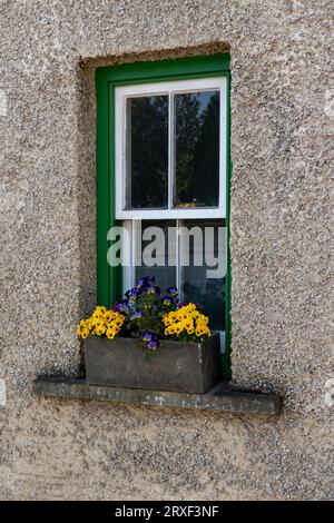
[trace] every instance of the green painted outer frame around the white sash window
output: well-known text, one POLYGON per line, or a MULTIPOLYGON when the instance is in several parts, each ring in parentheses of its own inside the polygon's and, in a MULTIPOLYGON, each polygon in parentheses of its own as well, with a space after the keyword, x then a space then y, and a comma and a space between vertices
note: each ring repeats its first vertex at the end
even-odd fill
POLYGON ((226 77, 227 80, 227 138, 226 138, 226 231, 227 273, 225 280, 225 354, 223 376, 230 379, 230 254, 229 254, 229 184, 230 162, 230 109, 229 109, 229 55, 179 58, 147 62, 124 63, 101 67, 96 70, 97 99, 97 300, 110 307, 120 299, 121 269, 107 262, 108 230, 118 225, 115 218, 115 88, 136 83, 151 83, 168 80, 190 80, 208 77, 226 77))

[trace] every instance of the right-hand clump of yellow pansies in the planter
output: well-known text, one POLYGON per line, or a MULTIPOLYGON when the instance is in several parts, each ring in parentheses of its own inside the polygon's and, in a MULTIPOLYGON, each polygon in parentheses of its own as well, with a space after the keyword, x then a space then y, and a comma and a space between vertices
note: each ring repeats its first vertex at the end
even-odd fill
POLYGON ((203 342, 205 336, 210 336, 208 317, 197 310, 196 305, 181 304, 177 310, 164 315, 165 336, 180 337, 185 342, 203 342))

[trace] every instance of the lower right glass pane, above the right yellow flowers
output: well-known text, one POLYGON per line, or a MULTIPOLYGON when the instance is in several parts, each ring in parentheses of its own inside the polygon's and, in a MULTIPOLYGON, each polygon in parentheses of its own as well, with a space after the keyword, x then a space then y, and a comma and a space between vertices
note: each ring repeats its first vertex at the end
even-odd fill
POLYGON ((180 299, 203 307, 209 316, 212 328, 225 330, 225 221, 186 220, 183 227, 188 230, 189 240, 181 231, 180 299), (219 270, 218 265, 215 267, 214 258, 219 259, 219 270), (187 262, 188 266, 185 266, 187 262), (214 270, 215 274, 207 270, 214 270))

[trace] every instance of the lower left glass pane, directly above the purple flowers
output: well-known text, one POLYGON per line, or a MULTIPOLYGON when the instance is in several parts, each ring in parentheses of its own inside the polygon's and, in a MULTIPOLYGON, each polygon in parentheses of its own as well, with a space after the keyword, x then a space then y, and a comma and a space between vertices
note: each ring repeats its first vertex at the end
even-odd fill
POLYGON ((136 282, 154 276, 164 293, 176 286, 176 221, 143 220, 141 234, 141 265, 136 267, 136 282))

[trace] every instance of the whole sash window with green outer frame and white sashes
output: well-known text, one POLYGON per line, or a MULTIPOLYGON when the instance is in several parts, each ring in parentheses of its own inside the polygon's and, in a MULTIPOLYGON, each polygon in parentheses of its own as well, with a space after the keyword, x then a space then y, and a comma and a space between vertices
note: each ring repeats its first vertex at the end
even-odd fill
POLYGON ((163 287, 176 285, 181 300, 204 306, 222 333, 225 358, 228 82, 227 56, 97 71, 99 303, 110 305, 146 275, 163 287), (128 238, 128 263, 119 268, 106 266, 107 234, 115 224, 128 238), (157 239, 147 265, 145 253, 157 239), (219 266, 216 273, 210 260, 219 266))

